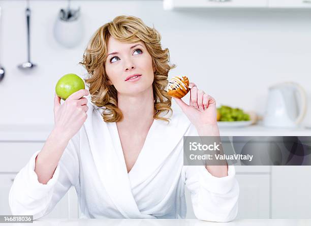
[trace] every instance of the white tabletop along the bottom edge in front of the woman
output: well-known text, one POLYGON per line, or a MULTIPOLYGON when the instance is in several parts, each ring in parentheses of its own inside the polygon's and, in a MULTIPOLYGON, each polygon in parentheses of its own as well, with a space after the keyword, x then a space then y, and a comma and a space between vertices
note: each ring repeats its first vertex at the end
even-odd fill
MULTIPOLYGON (((203 225, 236 225, 236 226, 297 226, 311 225, 311 219, 236 219, 231 222, 211 222, 197 219, 38 219, 34 224, 42 226, 203 226, 203 225)), ((16 223, 7 223, 7 226, 16 226, 16 223)), ((18 223, 29 226, 29 223, 18 223)), ((33 225, 33 224, 32 224, 33 225)))

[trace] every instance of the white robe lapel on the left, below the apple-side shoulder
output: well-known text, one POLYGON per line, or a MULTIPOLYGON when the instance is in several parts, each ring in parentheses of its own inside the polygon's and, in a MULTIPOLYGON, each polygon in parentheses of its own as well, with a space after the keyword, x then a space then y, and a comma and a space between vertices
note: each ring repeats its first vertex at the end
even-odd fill
POLYGON ((131 191, 127 171, 124 171, 112 145, 107 124, 102 119, 102 111, 95 109, 92 104, 88 104, 88 107, 84 126, 98 174, 111 201, 125 218, 155 218, 140 213, 131 191))

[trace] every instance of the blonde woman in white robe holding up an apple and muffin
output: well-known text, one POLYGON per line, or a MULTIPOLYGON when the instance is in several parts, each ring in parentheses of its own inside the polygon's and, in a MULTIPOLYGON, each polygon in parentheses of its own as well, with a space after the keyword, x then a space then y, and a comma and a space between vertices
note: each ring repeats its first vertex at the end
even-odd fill
POLYGON ((220 136, 215 100, 191 83, 190 105, 165 91, 168 49, 139 18, 118 16, 91 38, 85 89, 60 105, 42 150, 17 174, 12 214, 49 213, 71 186, 81 218, 184 218, 184 184, 196 216, 230 221, 238 209, 233 166, 183 166, 183 136, 220 136))

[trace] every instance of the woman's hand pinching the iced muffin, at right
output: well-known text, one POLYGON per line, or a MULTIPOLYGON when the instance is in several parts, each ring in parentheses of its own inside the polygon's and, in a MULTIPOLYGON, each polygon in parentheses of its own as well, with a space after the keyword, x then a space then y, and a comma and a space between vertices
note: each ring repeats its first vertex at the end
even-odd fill
POLYGON ((187 105, 181 99, 173 98, 184 114, 196 127, 217 124, 216 101, 212 96, 198 89, 193 82, 189 83, 190 103, 187 105))

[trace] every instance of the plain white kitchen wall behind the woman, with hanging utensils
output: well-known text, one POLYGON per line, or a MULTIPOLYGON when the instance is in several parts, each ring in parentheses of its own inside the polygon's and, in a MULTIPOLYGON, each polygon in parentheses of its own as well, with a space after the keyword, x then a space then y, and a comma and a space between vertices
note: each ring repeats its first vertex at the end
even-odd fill
POLYGON ((67 2, 30 1, 32 60, 38 68, 25 74, 16 67, 26 60, 25 1, 0 1, 0 62, 6 68, 0 82, 0 124, 52 124, 57 80, 67 73, 83 77, 78 62, 90 36, 120 14, 153 24, 177 64, 169 75, 189 76, 219 105, 263 113, 269 85, 282 81, 298 82, 311 97, 310 11, 171 12, 163 10, 162 1, 74 1, 72 5, 81 6, 85 36, 75 49, 65 49, 53 39, 52 28, 67 2))

